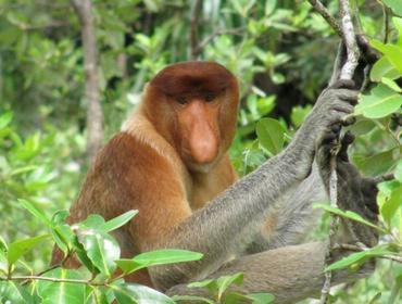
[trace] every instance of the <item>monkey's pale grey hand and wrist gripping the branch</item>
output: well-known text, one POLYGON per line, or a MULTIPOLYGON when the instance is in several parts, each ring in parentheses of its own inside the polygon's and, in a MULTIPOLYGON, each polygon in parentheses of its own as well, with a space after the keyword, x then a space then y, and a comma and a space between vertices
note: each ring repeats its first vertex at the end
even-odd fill
POLYGON ((322 138, 334 125, 349 125, 351 114, 357 103, 359 91, 354 90, 352 80, 339 80, 325 89, 318 97, 312 112, 298 130, 289 150, 293 151, 297 174, 305 178, 314 160, 316 138, 322 138))

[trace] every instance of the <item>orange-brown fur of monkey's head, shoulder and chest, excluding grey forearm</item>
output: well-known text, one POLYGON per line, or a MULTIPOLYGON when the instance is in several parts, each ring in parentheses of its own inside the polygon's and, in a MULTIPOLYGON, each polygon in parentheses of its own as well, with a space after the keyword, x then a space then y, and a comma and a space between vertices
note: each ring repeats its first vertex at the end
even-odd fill
MULTIPOLYGON (((226 152, 238 102, 236 78, 218 64, 188 62, 160 72, 123 131, 100 151, 68 223, 91 213, 109 219, 138 210, 115 233, 122 256, 152 250, 237 179, 226 152)), ((55 251, 52 263, 61 258, 55 251)), ((126 279, 151 286, 146 270, 126 279)))

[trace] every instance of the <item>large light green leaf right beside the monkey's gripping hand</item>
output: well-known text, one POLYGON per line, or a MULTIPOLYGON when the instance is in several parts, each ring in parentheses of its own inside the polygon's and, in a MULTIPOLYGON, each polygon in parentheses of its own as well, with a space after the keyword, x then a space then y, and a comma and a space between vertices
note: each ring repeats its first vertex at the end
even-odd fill
POLYGON ((402 105, 402 96, 389 87, 378 84, 369 94, 362 94, 355 106, 355 114, 363 114, 367 118, 380 118, 399 110, 402 105))

